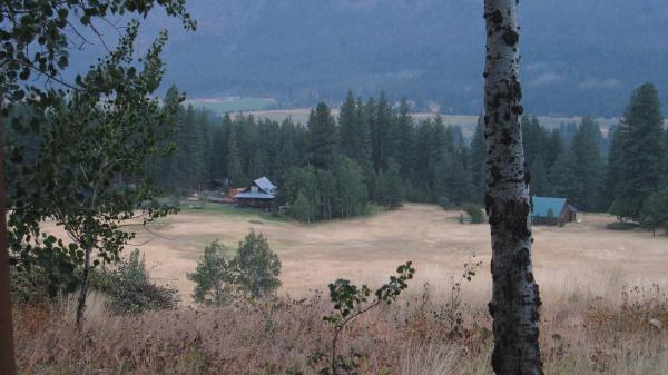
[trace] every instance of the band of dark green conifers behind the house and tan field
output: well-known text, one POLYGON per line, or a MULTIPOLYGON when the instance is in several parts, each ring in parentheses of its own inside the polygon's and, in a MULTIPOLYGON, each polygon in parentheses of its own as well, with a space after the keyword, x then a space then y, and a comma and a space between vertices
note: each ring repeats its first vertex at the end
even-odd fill
MULTIPOLYGON (((654 86, 642 86, 607 136, 589 117, 554 129, 523 117, 532 194, 568 197, 580 210, 640 221, 645 201, 668 185, 659 107, 654 86)), ((151 177, 166 191, 184 195, 267 176, 278 185, 281 201, 304 221, 360 215, 370 201, 482 204, 482 120, 469 139, 460 126, 439 116, 416 120, 410 110, 405 100, 394 105, 384 95, 363 100, 352 92, 337 118, 320 103, 305 126, 181 108, 171 139, 177 149, 156 158, 151 177)))

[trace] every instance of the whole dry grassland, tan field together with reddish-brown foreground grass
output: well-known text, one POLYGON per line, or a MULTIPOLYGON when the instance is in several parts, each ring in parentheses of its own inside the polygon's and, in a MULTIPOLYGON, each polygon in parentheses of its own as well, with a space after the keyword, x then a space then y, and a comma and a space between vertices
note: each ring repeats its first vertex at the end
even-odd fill
MULTIPOLYGON (((184 211, 154 228, 160 237, 145 233, 136 240, 154 277, 180 290, 181 307, 111 316, 104 296, 95 296, 81 332, 71 303, 51 314, 18 312, 22 372, 314 374, 307 358, 326 352, 332 334, 322 322, 326 295, 316 290, 337 277, 377 285, 413 260, 418 277, 409 295, 354 322, 342 352, 362 354, 361 374, 491 374, 489 228, 461 225, 458 217, 429 205, 318 225, 210 207, 184 211), (281 298, 190 306, 185 275, 204 246, 214 239, 236 245, 250 229, 267 237, 283 263, 281 298), (450 278, 471 251, 483 266, 463 285, 463 320, 453 329, 450 278)), ((546 374, 668 374, 668 237, 608 230, 613 218, 607 215, 579 218, 563 228, 534 228, 546 374)))

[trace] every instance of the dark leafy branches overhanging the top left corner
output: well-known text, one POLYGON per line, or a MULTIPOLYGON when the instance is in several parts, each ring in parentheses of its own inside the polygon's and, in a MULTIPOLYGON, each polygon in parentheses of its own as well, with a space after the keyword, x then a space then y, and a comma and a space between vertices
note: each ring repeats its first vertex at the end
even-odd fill
MULTIPOLYGON (((69 49, 72 45, 89 42, 79 28, 91 31, 105 43, 97 32, 97 22, 104 22, 109 16, 137 14, 146 18, 156 7, 181 19, 186 29, 195 29, 196 22, 185 10, 185 0, 3 1, 0 95, 12 102, 26 99, 30 106, 42 108, 57 105, 62 99, 65 92, 58 86, 75 91, 91 90, 91 95, 107 86, 106 93, 109 95, 114 86, 105 82, 104 75, 98 76, 102 80, 78 77, 75 85, 62 78, 61 72, 69 66, 69 49), (23 85, 36 76, 38 82, 45 83, 43 88, 32 82, 23 85)), ((130 29, 137 23, 131 21, 130 29)), ((107 72, 98 68, 92 70, 107 72)), ((135 69, 116 69, 115 75, 122 78, 129 72, 134 73, 135 69)))

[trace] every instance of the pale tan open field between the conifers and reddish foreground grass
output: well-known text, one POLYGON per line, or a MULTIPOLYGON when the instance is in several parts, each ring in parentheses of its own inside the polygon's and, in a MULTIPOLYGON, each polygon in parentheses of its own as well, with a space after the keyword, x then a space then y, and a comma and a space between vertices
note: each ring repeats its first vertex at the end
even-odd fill
MULTIPOLYGON (((189 299, 193 285, 186 273, 195 269, 204 247, 214 239, 229 246, 250 230, 264 234, 283 263, 281 289, 293 297, 325 289, 337 277, 375 284, 395 266, 413 260, 418 283, 435 292, 449 289, 449 278, 471 251, 483 269, 469 295, 487 300, 491 256, 489 227, 461 225, 459 213, 438 206, 409 204, 400 210, 318 225, 301 225, 268 215, 225 206, 186 210, 169 217, 156 231, 139 233, 151 274, 175 285, 189 299), (153 239, 151 239, 153 238, 153 239), (439 290, 441 289, 441 290, 439 290)), ((543 299, 560 300, 564 293, 591 290, 619 296, 622 285, 658 283, 668 286, 668 237, 644 231, 613 231, 608 215, 581 214, 581 224, 534 228, 534 268, 543 299)))

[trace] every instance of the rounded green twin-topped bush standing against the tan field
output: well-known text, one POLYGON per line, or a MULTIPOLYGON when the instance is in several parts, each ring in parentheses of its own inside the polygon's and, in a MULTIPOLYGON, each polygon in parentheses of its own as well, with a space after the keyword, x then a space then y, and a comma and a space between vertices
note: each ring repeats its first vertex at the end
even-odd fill
POLYGON ((281 260, 261 235, 250 231, 239 243, 234 258, 226 259, 228 248, 212 243, 204 249, 194 273, 193 299, 205 305, 222 305, 238 298, 262 298, 276 292, 281 285, 281 260))

